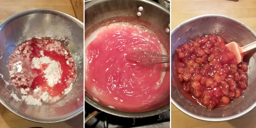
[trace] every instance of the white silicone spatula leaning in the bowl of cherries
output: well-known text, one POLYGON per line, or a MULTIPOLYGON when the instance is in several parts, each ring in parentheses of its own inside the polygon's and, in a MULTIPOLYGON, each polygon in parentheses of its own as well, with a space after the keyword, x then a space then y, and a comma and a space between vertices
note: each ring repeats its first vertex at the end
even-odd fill
POLYGON ((251 49, 256 48, 256 41, 252 42, 246 46, 240 47, 238 45, 238 43, 236 42, 230 42, 228 44, 226 44, 226 47, 228 47, 231 52, 233 52, 235 54, 235 57, 238 61, 238 63, 240 63, 242 61, 242 59, 244 58, 244 55, 251 49))

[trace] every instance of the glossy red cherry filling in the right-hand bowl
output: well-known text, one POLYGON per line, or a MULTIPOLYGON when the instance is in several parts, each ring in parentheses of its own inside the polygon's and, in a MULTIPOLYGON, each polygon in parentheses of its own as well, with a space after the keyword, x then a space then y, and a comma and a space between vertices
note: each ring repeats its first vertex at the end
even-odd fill
POLYGON ((206 35, 176 49, 178 88, 188 99, 213 109, 228 105, 247 88, 247 66, 237 64, 223 38, 206 35))

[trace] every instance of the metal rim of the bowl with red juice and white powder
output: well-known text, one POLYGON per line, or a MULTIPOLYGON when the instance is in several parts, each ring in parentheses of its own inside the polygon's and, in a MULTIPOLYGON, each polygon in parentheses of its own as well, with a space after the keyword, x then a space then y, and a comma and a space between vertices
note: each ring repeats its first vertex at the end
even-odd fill
MULTIPOLYGON (((21 11, 21 12, 18 12, 8 18, 6 18, 4 21, 2 21, 0 23, 0 31, 2 30, 2 28, 5 27, 5 25, 7 25, 8 23, 16 20, 17 18, 20 18, 20 17, 23 17, 23 16, 26 16, 26 15, 31 15, 31 14, 52 14, 52 15, 60 15, 60 16, 63 16, 73 22, 75 22, 76 24, 78 24, 78 26, 80 26, 81 28, 84 27, 84 24, 79 21, 78 19, 76 19, 75 17, 71 16, 71 15, 68 15, 64 12, 61 12, 61 11, 57 11, 57 10, 53 10, 53 9, 29 9, 29 10, 25 10, 25 11, 21 11)), ((73 117, 76 117, 78 116, 79 114, 81 114, 83 111, 84 111, 84 106, 80 107, 78 110, 72 112, 72 113, 69 113, 68 115, 65 115, 65 116, 62 116, 60 119, 56 119, 56 118, 59 118, 59 117, 55 117, 55 118, 47 118, 47 119, 41 119, 41 118, 34 118, 34 117, 31 117, 29 115, 26 115, 26 116, 23 116, 23 115, 20 115, 17 113, 18 110, 16 110, 14 107, 12 107, 10 104, 6 103, 5 99, 0 96, 0 103, 5 107, 7 108, 9 111, 11 111, 12 113, 16 114, 17 116, 23 118, 23 119, 27 119, 29 121, 33 121, 33 122, 37 122, 37 123, 58 123, 58 122, 63 122, 63 121, 66 121, 68 119, 71 119, 73 117), (11 109, 11 108, 14 108, 14 109, 11 109)), ((19 113, 23 113, 23 112, 20 112, 18 111, 19 113)))

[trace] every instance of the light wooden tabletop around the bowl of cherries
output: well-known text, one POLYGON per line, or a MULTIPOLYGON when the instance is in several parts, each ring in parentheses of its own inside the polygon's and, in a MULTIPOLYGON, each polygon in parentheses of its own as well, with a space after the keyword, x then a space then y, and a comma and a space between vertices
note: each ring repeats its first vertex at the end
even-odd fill
MULTIPOLYGON (((220 14, 238 19, 256 30, 256 0, 171 0, 171 29, 192 17, 220 14)), ((187 116, 171 105, 171 128, 256 128, 256 108, 238 119, 206 122, 187 116)))

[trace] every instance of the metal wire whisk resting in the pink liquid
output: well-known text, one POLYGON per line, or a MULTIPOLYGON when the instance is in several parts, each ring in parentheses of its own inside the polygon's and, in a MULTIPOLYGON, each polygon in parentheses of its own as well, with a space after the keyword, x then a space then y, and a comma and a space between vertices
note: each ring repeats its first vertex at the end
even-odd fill
POLYGON ((148 51, 134 52, 130 60, 137 62, 140 65, 155 65, 170 63, 170 55, 164 55, 148 51))

